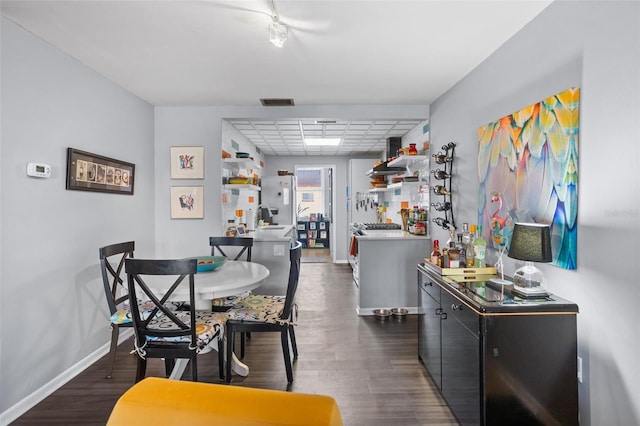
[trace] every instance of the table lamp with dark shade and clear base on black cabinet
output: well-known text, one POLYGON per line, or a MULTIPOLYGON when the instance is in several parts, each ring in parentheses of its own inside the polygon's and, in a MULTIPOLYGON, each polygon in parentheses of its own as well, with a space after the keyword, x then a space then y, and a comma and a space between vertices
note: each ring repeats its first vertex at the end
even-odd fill
POLYGON ((547 296, 544 274, 533 262, 551 262, 551 231, 541 223, 516 223, 507 256, 524 260, 513 276, 513 293, 524 297, 547 296))

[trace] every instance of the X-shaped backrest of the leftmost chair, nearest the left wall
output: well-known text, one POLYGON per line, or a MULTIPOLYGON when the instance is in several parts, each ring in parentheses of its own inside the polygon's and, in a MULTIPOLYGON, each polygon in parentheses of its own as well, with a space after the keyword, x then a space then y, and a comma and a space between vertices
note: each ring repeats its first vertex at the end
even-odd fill
POLYGON ((111 315, 118 310, 118 305, 129 297, 126 292, 127 286, 122 279, 122 272, 125 259, 133 258, 134 250, 134 241, 112 244, 101 247, 98 250, 100 257, 100 270, 102 271, 102 283, 104 285, 107 304, 109 305, 111 315), (119 257, 115 257, 118 255, 119 257), (117 266, 115 266, 116 259, 117 266), (119 290, 124 291, 124 294, 118 296, 120 293, 119 290))

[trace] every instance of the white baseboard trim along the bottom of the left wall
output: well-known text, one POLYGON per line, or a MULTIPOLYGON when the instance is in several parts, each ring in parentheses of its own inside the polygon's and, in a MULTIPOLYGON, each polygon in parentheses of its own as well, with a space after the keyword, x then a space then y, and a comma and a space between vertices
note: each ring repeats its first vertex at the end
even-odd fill
MULTIPOLYGON (((118 344, 121 344, 131 336, 133 336, 132 329, 121 331, 120 336, 118 337, 118 344)), ((107 353, 109 353, 109 343, 100 346, 98 349, 87 355, 85 358, 81 359, 75 365, 72 365, 66 371, 62 372, 57 377, 46 383, 40 389, 36 390, 30 395, 27 395, 21 401, 3 411, 0 414, 0 425, 6 426, 9 423, 15 421, 18 417, 22 416, 24 413, 35 407, 38 403, 51 395, 53 392, 60 389, 65 383, 69 382, 69 380, 82 373, 87 369, 87 367, 93 365, 107 353)))

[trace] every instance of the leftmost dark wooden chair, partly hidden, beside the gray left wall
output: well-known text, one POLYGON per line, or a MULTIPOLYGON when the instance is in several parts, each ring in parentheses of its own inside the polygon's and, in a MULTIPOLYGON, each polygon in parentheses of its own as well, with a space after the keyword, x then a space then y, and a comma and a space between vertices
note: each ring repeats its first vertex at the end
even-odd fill
POLYGON ((124 276, 124 261, 133 258, 135 242, 112 244, 101 247, 98 252, 100 256, 100 269, 102 271, 102 283, 109 305, 111 315, 111 346, 109 348, 109 363, 107 365, 107 379, 111 378, 113 366, 116 362, 116 349, 118 347, 118 337, 120 328, 130 328, 131 313, 125 302, 129 300, 127 286, 122 277, 124 276))

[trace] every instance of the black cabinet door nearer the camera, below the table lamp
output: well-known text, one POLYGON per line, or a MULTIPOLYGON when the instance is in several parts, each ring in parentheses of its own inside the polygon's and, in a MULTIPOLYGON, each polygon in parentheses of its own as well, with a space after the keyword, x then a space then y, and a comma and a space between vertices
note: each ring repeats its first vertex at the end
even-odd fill
POLYGON ((442 395, 458 421, 480 424, 480 319, 442 291, 442 395), (478 324, 475 333, 470 324, 478 324))

